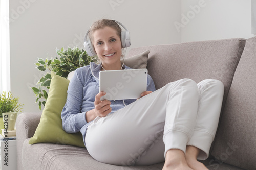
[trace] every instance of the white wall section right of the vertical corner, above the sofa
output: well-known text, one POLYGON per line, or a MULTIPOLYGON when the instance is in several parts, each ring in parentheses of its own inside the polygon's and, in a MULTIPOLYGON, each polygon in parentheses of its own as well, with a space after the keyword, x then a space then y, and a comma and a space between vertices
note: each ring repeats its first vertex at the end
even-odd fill
POLYGON ((181 42, 254 36, 250 0, 182 0, 181 11, 181 42))

